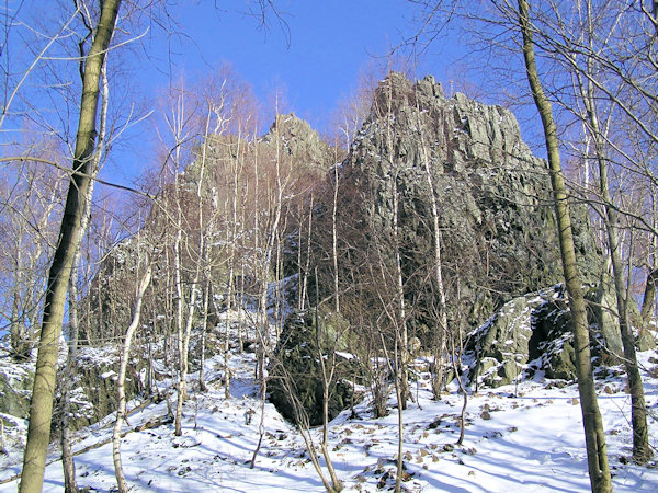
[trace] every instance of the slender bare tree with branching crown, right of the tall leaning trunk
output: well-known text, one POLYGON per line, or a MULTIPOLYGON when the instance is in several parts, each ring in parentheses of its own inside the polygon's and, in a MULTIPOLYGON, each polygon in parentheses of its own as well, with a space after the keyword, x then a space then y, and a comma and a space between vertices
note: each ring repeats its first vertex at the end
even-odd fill
MULTIPOLYGON (((631 158, 628 151, 622 151, 620 156, 622 148, 627 145, 617 144, 620 139, 619 137, 615 138, 614 134, 620 133, 620 130, 625 133, 625 128, 619 128, 620 126, 615 125, 614 118, 628 117, 628 113, 635 115, 637 112, 644 111, 647 104, 649 107, 650 104, 655 104, 650 103, 654 95, 648 93, 650 87, 645 87, 645 81, 640 80, 640 76, 647 72, 649 78, 653 78, 654 70, 647 70, 646 67, 629 69, 622 60, 613 58, 620 49, 623 51, 627 49, 624 46, 616 46, 617 32, 620 34, 637 32, 636 27, 631 27, 627 23, 636 21, 638 14, 626 12, 624 9, 613 9, 610 12, 611 19, 608 16, 602 18, 599 14, 599 8, 592 5, 591 2, 577 2, 575 9, 580 12, 582 19, 576 26, 571 26, 565 13, 554 7, 549 11, 554 20, 542 16, 542 25, 535 23, 534 30, 536 36, 541 36, 546 44, 554 47, 551 50, 551 57, 572 74, 574 93, 564 94, 565 99, 560 98, 558 101, 582 122, 586 142, 591 142, 591 159, 598 165, 599 187, 594 191, 597 197, 594 198, 597 202, 594 207, 600 210, 605 228, 605 239, 616 295, 619 324, 624 352, 623 359, 632 398, 633 458, 636 462, 644 463, 651 457, 651 450, 648 444, 644 388, 637 365, 635 336, 631 326, 629 311, 633 300, 627 296, 623 261, 624 251, 631 259, 632 249, 623 245, 623 238, 620 236, 622 225, 619 210, 624 207, 621 200, 613 198, 611 192, 613 186, 621 188, 625 188, 625 186, 619 182, 619 177, 614 180, 611 172, 614 173, 615 168, 617 170, 625 168, 633 172, 635 180, 644 174, 642 165, 638 165, 637 160, 631 158), (632 20, 628 18, 632 18, 632 20), (554 25, 558 28, 553 30, 554 25), (548 34, 549 30, 551 34, 548 34), (611 43, 612 41, 615 43, 611 43), (616 89, 612 85, 615 78, 619 84, 616 89), (615 95, 612 96, 611 94, 615 95), (626 94, 628 99, 621 101, 616 94, 626 94), (569 104, 568 101, 575 101, 578 104, 569 104), (625 107, 620 107, 622 105, 625 105, 625 107)), ((640 15, 646 14, 645 12, 640 15)), ((640 60, 643 58, 640 56, 640 60)), ((642 62, 638 65, 643 67, 642 62)), ((642 129, 646 133, 649 128, 655 127, 655 123, 656 118, 643 117, 642 129)), ((631 133, 625 134, 629 135, 631 133)), ((625 139, 622 139, 622 142, 623 140, 625 139)), ((633 137, 629 137, 628 140, 633 141, 633 137)), ((646 139, 643 144, 647 144, 646 139)), ((586 147, 586 162, 590 160, 588 154, 588 148, 586 147)), ((627 207, 625 209, 627 210, 627 207)), ((631 277, 632 274, 628 273, 628 283, 631 277)))

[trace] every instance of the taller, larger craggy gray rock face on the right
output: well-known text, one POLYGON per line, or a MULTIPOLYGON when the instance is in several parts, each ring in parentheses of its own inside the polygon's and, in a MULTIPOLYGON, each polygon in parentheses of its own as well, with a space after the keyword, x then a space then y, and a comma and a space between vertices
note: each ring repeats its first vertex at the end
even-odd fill
MULTIPOLYGON (((411 83, 390 73, 342 164, 339 195, 343 223, 352 225, 347 229, 363 231, 361 249, 385 251, 393 242, 397 193, 397 241, 415 306, 429 310, 436 293, 427 274, 434 255, 426 162, 439 207, 453 322, 465 316, 478 326, 511 298, 560 280, 549 177, 544 161, 521 139, 514 116, 463 94, 446 98, 431 77, 411 83)), ((599 253, 587 213, 578 209, 575 216, 581 268, 593 280, 599 253)))

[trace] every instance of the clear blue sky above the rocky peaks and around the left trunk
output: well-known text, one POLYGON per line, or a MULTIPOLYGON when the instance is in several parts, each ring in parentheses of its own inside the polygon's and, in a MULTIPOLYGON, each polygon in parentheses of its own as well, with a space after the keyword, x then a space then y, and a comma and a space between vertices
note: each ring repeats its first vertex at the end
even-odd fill
MULTIPOLYGON (((65 1, 63 5, 72 12, 73 3, 65 1)), ((339 101, 358 89, 360 77, 373 68, 379 68, 377 74, 383 74, 387 54, 418 28, 413 22, 416 5, 407 0, 273 0, 285 28, 271 12, 266 18, 269 26, 259 27, 258 20, 246 13, 249 7, 258 8, 258 0, 167 0, 164 3, 167 15, 178 24, 175 33, 168 34, 154 23, 139 43, 133 43, 132 50, 122 48, 111 57, 111 77, 117 69, 123 71, 117 92, 111 94, 113 104, 122 107, 123 117, 132 111, 133 104, 136 104, 135 114, 155 110, 157 94, 172 80, 178 83, 181 76, 194 80, 228 62, 241 80, 252 85, 272 121, 273 95, 279 92, 285 102, 282 111, 294 111, 324 131, 339 101)), ((60 22, 58 18, 67 14, 67 10, 58 5, 55 0, 10 0, 7 11, 15 10, 19 20, 24 18, 48 31, 60 25, 50 22, 52 18, 60 22)), ((127 12, 126 5, 122 7, 122 14, 127 12)), ((162 15, 158 2, 154 9, 162 15)), ((141 33, 143 25, 138 30, 141 33)), ((32 51, 24 39, 31 37, 23 38, 21 34, 31 32, 20 24, 14 26, 9 45, 11 57, 22 56, 22 61, 30 61, 32 51)), ((131 36, 135 34, 131 31, 131 36)), ((45 43, 38 36, 36 39, 38 43, 32 49, 41 49, 45 43)), ((76 49, 77 41, 76 36, 67 39, 69 49, 76 49)), ((46 69, 43 77, 55 77, 44 80, 64 83, 59 90, 49 87, 45 93, 39 88, 42 76, 33 74, 25 88, 26 99, 32 99, 36 110, 55 126, 64 125, 67 130, 63 130, 66 134, 63 140, 72 141, 79 101, 78 65, 75 58, 67 58, 75 56, 75 51, 54 49, 56 56, 64 58, 53 61, 53 71, 46 69)), ((455 45, 445 39, 434 43, 411 72, 417 78, 431 73, 447 84, 456 51, 455 45)), ((9 54, 3 53, 7 59, 9 54)), ((409 70, 411 66, 407 60, 406 68, 409 70)), ((268 126, 269 122, 262 130, 268 126)), ((113 148, 102 176, 126 184, 134 182, 146 165, 152 165, 156 140, 152 122, 144 121, 129 127, 123 138, 113 148)))

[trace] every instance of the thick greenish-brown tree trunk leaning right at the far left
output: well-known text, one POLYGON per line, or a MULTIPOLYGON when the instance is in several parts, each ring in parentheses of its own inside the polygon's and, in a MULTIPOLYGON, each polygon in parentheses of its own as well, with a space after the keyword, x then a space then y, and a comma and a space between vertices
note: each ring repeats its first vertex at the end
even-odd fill
POLYGON ((27 444, 23 456, 20 491, 41 491, 46 465, 46 449, 50 438, 53 397, 55 393, 57 354, 66 293, 73 262, 76 238, 84 214, 83 199, 89 188, 89 169, 95 149, 95 121, 99 103, 99 81, 106 50, 112 39, 121 0, 105 0, 91 49, 84 62, 80 121, 76 137, 73 174, 64 209, 59 241, 48 274, 39 348, 34 375, 34 390, 30 409, 27 444), (77 173, 76 173, 77 172, 77 173), (79 173, 79 174, 78 174, 79 173))

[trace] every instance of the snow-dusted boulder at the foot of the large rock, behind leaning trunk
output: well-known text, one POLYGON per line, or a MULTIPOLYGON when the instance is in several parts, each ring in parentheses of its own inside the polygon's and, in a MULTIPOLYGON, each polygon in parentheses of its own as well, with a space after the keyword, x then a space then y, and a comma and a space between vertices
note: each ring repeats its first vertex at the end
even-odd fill
MULTIPOLYGON (((586 290, 592 356, 597 365, 621 363, 619 322, 611 308, 614 294, 603 287, 586 290)), ((638 348, 639 346, 638 341, 638 348)), ((561 285, 513 298, 469 334, 466 354, 474 362, 469 379, 489 387, 543 371, 551 379, 576 379, 570 316, 561 285)))

